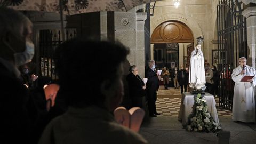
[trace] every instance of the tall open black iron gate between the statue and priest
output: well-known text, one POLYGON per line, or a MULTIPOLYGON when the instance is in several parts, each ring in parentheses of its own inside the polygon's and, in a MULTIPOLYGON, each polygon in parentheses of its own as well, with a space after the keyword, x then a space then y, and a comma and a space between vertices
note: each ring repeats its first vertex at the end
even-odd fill
POLYGON ((219 105, 232 110, 234 81, 232 70, 240 57, 247 57, 246 20, 243 3, 238 0, 219 0, 217 5, 218 70, 220 73, 219 105))

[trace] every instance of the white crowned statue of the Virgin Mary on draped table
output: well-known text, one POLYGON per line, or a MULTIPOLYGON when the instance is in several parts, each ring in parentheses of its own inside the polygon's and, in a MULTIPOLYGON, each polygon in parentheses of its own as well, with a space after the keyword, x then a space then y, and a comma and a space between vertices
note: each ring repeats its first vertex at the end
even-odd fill
POLYGON ((189 87, 194 90, 205 89, 204 55, 201 51, 201 43, 204 38, 196 38, 197 44, 191 53, 189 65, 189 87))

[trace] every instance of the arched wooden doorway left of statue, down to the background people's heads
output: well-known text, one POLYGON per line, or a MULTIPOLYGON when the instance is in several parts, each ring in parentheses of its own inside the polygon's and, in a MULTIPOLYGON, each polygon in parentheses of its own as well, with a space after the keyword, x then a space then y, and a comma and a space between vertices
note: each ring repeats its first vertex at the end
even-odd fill
POLYGON ((158 68, 189 67, 194 37, 190 28, 180 21, 165 21, 158 25, 151 35, 154 44, 154 60, 158 68))

